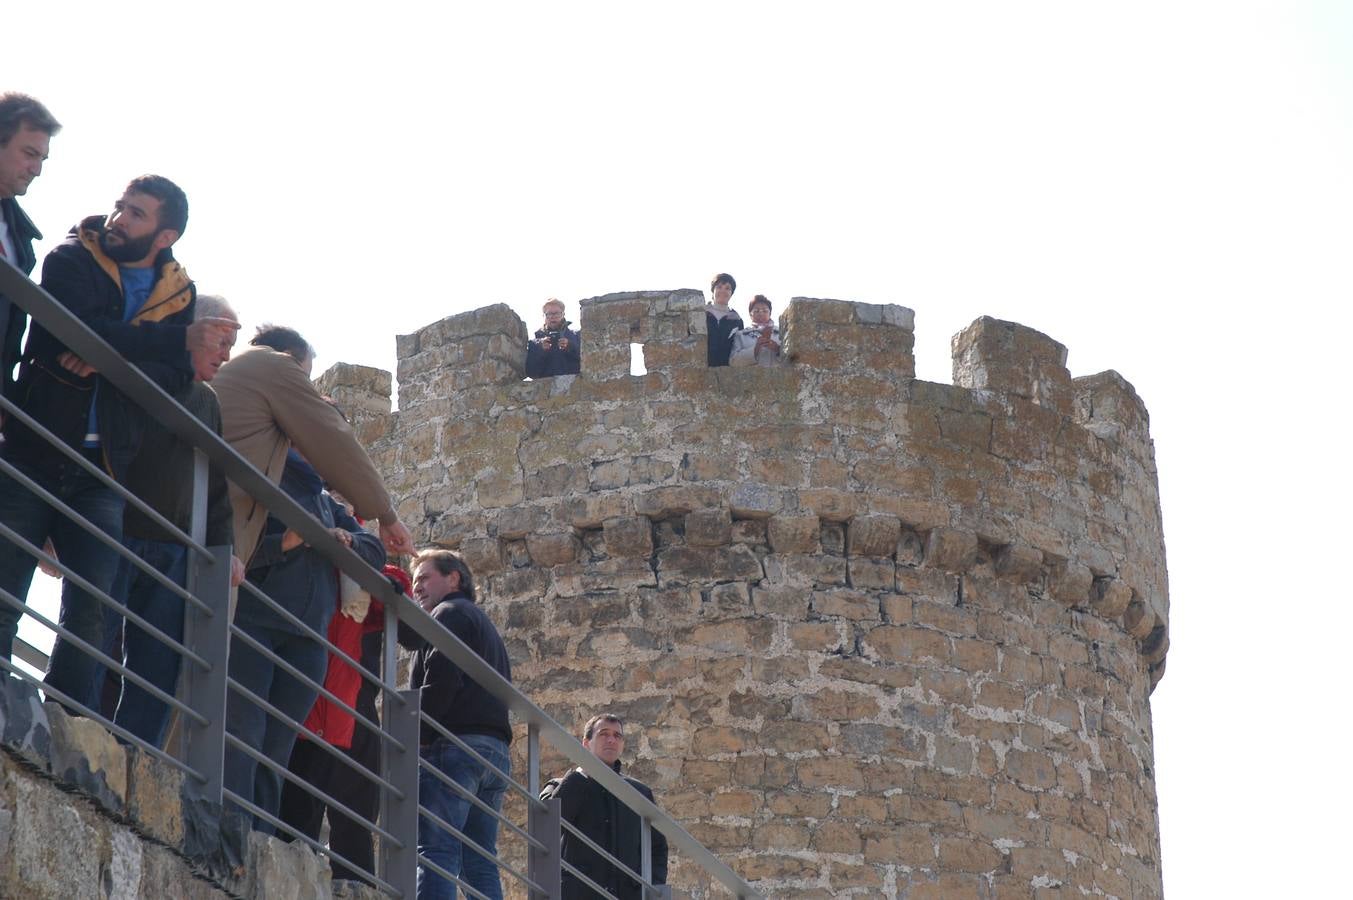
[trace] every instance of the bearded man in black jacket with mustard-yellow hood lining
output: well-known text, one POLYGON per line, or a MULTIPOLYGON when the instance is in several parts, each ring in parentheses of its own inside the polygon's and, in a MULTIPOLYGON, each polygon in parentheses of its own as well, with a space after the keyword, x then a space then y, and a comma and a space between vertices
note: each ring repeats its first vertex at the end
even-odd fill
MULTIPOLYGON (((219 353, 239 328, 226 319, 193 321, 196 288, 169 252, 187 225, 188 199, 179 185, 141 176, 107 218, 85 219, 42 264, 42 287, 170 394, 192 380, 196 357, 219 353)), ((11 397, 88 463, 119 480, 126 475, 141 447, 145 414, 39 322, 28 330, 11 397)), ((19 474, 122 540, 122 497, 15 417, 4 422, 0 452, 19 474)), ((65 566, 103 593, 111 587, 116 551, 4 471, 0 522, 37 547, 50 537, 65 566)), ((19 544, 0 540, 0 587, 26 597, 35 564, 19 544)), ((18 610, 3 606, 0 654, 8 656, 18 610)), ((100 602, 69 578, 61 591, 61 625, 95 647, 103 643, 100 602)), ((93 656, 58 637, 46 683, 84 702, 96 671, 93 656)))

